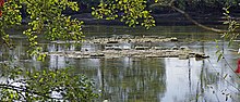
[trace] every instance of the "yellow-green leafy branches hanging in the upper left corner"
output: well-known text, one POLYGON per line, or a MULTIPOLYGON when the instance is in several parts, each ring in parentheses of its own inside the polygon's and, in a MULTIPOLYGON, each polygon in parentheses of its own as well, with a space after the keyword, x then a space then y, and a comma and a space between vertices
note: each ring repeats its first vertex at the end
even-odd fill
POLYGON ((31 55, 37 55, 38 60, 44 60, 45 55, 39 53, 41 48, 37 41, 39 35, 44 35, 48 40, 82 40, 83 22, 62 14, 67 8, 77 11, 76 2, 68 0, 9 0, 2 8, 3 14, 0 24, 1 39, 7 44, 10 43, 10 39, 5 29, 21 24, 20 9, 23 4, 31 18, 29 28, 23 33, 28 38, 31 55))

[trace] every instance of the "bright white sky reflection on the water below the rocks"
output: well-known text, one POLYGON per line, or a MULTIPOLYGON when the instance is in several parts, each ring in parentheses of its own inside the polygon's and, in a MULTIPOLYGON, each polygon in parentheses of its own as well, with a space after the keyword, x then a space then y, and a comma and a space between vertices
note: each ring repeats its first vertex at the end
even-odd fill
POLYGON ((196 77, 191 76, 192 74, 195 74, 192 72, 195 68, 201 68, 201 64, 196 63, 193 67, 188 60, 180 61, 178 59, 166 59, 165 63, 167 91, 165 92, 165 97, 161 99, 161 102, 187 101, 189 94, 192 94, 191 90, 194 91, 195 89, 194 87, 192 88, 192 86, 194 86, 193 84, 195 84, 192 80, 199 80, 196 77))

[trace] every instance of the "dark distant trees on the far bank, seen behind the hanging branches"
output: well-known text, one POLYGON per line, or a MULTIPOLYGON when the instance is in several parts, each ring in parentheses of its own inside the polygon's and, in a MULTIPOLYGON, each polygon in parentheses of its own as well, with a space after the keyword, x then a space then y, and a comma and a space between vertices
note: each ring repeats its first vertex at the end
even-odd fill
MULTIPOLYGON (((73 12, 70 9, 67 9, 64 14, 81 14, 81 13, 91 13, 93 7, 97 7, 100 1, 112 2, 113 0, 71 0, 76 1, 80 7, 79 12, 73 12)), ((155 0, 146 0, 147 9, 152 11, 154 14, 163 14, 173 12, 169 8, 161 7, 156 4, 155 0)), ((159 0, 160 2, 169 2, 171 0, 159 0)), ((240 12, 240 0, 176 0, 176 7, 182 9, 187 12, 194 12, 197 14, 206 14, 206 13, 223 13, 223 8, 231 7, 231 13, 240 12)), ((25 12, 24 5, 21 10, 23 17, 26 17, 27 14, 25 12)))

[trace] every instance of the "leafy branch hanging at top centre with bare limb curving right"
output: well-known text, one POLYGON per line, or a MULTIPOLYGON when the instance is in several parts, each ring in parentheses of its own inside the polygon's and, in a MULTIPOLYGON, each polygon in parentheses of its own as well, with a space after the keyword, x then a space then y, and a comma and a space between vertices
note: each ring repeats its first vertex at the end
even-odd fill
POLYGON ((228 30, 207 27, 200 24, 188 14, 188 10, 211 7, 220 9, 224 7, 237 7, 238 0, 101 0, 98 7, 93 8, 92 15, 104 20, 120 20, 129 26, 141 24, 146 28, 155 26, 154 17, 151 14, 153 7, 168 8, 183 14, 193 24, 216 33, 228 30), (217 7, 214 7, 216 5, 217 7), (187 10, 187 11, 185 11, 187 10))

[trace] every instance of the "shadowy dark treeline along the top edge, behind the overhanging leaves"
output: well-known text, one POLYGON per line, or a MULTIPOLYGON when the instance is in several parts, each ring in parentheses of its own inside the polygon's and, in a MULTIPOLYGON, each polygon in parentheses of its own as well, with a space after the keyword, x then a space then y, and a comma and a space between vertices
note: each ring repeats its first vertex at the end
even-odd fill
MULTIPOLYGON (((80 12, 91 12, 92 7, 97 7, 101 0, 72 0, 76 1, 81 8, 80 12)), ((103 0, 106 3, 113 0, 103 0)), ((161 13, 169 11, 169 9, 155 4, 155 0, 146 0, 147 7, 153 13, 161 13)), ((159 0, 160 2, 169 2, 171 0, 159 0)), ((176 7, 185 11, 202 11, 202 12, 213 12, 220 11, 223 8, 231 7, 232 10, 239 9, 240 0, 176 0, 176 7)), ((221 12, 221 11, 220 11, 221 12)), ((70 13, 70 12, 69 12, 70 13)))

